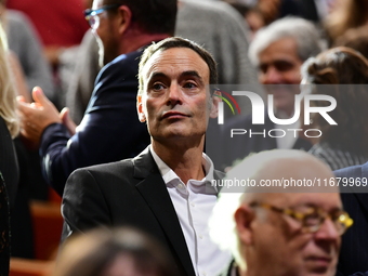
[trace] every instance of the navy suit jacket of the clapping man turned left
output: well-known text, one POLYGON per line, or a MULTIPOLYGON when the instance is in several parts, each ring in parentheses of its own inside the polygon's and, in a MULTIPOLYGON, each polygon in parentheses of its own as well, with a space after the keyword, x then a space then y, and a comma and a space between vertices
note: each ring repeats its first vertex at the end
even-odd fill
POLYGON ((42 170, 60 195, 75 169, 131 158, 149 144, 147 127, 136 114, 141 54, 139 50, 120 55, 101 70, 74 136, 60 123, 44 130, 40 145, 42 170))

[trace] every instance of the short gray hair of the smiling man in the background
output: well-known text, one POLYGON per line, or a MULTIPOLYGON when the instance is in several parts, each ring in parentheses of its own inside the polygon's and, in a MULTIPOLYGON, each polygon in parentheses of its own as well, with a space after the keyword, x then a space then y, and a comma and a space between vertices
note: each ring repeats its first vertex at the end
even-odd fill
POLYGON ((317 55, 326 47, 316 26, 299 17, 284 17, 260 29, 249 47, 249 58, 254 66, 259 65, 259 54, 271 43, 282 38, 294 38, 298 55, 302 62, 317 55))

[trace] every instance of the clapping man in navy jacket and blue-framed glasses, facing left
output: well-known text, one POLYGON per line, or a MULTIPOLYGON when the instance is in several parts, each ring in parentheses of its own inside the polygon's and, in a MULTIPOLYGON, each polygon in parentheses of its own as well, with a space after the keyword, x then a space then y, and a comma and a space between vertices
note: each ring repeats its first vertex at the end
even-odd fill
POLYGON ((105 67, 79 127, 40 88, 34 104, 19 100, 22 134, 40 145, 43 175, 60 195, 74 170, 134 157, 149 144, 136 118, 139 61, 146 45, 173 35, 176 0, 94 0, 84 15, 105 67))

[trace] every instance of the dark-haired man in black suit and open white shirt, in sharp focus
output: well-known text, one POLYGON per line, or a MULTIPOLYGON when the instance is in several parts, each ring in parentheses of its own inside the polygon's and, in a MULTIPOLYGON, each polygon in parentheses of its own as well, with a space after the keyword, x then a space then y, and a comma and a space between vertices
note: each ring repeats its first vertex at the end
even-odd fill
POLYGON ((209 237, 208 219, 220 179, 203 154, 210 117, 218 115, 215 62, 199 45, 168 38, 148 47, 140 63, 137 113, 152 144, 133 159, 76 170, 63 197, 74 232, 131 225, 159 239, 179 275, 216 275, 229 260, 209 237))

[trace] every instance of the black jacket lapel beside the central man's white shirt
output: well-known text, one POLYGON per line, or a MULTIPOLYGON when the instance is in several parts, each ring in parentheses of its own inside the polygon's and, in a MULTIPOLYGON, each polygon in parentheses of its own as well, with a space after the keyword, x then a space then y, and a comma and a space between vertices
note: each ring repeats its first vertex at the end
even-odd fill
POLYGON ((133 162, 134 178, 143 179, 136 184, 136 189, 157 218, 165 235, 170 241, 172 251, 176 252, 178 260, 182 262, 186 274, 195 275, 174 206, 148 148, 134 158, 133 162))

